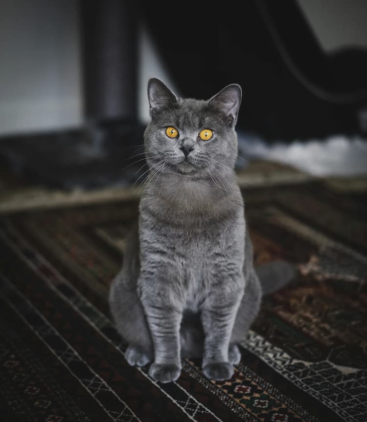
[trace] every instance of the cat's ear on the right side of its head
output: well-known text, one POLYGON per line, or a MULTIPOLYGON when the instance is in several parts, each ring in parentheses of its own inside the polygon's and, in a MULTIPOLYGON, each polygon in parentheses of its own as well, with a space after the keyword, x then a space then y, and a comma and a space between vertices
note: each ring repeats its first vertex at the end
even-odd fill
POLYGON ((238 84, 230 84, 218 94, 210 98, 208 104, 228 118, 228 123, 234 126, 237 122, 238 110, 242 100, 242 89, 238 84))

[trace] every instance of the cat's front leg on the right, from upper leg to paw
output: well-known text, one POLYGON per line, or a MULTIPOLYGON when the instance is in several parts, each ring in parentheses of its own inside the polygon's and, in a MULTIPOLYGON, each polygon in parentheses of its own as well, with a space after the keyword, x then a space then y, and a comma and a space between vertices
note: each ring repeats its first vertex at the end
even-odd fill
POLYGON ((243 295, 243 283, 230 292, 208 295, 201 310, 205 333, 203 372, 211 380, 228 380, 234 372, 228 350, 234 320, 243 295))

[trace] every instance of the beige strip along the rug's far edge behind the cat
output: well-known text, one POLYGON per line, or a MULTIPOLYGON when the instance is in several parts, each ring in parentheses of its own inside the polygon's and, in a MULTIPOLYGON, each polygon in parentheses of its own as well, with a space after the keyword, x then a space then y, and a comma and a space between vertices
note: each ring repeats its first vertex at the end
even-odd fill
MULTIPOLYGON (((240 186, 245 189, 295 184, 316 179, 291 166, 260 160, 250 162, 246 169, 238 171, 237 175, 240 186)), ((367 175, 324 180, 336 190, 350 190, 350 186, 357 191, 367 190, 367 175)), ((138 198, 142 191, 139 187, 128 185, 96 190, 52 190, 30 185, 27 181, 0 171, 0 213, 134 199, 138 198)))

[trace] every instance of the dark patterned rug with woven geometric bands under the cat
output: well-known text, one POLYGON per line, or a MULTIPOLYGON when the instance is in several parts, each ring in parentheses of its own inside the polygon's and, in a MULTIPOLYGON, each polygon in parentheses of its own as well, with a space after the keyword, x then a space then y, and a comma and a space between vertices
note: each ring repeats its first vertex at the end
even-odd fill
POLYGON ((107 295, 136 199, 2 213, 2 420, 366 422, 367 190, 333 183, 243 190, 256 263, 298 275, 264 298, 229 381, 125 361, 107 295))

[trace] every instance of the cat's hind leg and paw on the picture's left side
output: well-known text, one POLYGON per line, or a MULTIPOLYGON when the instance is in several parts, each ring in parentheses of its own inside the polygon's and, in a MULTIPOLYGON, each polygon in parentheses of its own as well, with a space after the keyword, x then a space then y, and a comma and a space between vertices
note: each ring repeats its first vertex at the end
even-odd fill
POLYGON ((126 360, 132 366, 144 366, 153 360, 153 342, 135 283, 130 283, 127 278, 121 271, 113 280, 110 310, 117 331, 128 342, 126 360))

